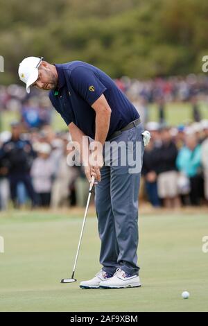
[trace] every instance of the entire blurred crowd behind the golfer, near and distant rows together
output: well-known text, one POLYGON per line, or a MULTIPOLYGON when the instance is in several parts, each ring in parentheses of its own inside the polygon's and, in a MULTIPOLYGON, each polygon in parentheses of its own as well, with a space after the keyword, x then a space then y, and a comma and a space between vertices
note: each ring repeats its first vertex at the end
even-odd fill
MULTIPOLYGON (((206 205, 208 121, 202 120, 198 100, 207 101, 208 78, 192 74, 147 81, 123 77, 115 82, 152 136, 144 153, 141 197, 154 207, 206 205), (164 105, 170 101, 191 102, 194 122, 167 126, 164 105), (157 122, 148 121, 149 103, 157 103, 157 122)), ((18 111, 21 117, 0 134, 0 209, 10 203, 85 206, 88 182, 81 166, 67 164, 70 135, 51 128, 47 93, 33 89, 29 96, 22 86, 0 86, 0 108, 18 111)))

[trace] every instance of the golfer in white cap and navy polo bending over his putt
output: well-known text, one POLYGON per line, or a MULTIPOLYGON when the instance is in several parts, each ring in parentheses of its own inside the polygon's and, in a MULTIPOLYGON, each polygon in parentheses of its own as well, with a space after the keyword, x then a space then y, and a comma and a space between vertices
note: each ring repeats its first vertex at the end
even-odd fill
MULTIPOLYGON (((30 87, 49 92, 49 98, 69 127, 73 141, 81 148, 85 174, 95 187, 98 232, 101 239, 101 271, 92 280, 83 281, 83 289, 118 289, 141 286, 138 247, 138 194, 144 142, 139 113, 114 81, 100 69, 81 61, 51 65, 44 58, 28 57, 19 65, 19 78, 30 87), (83 148, 83 139, 101 144, 91 158, 83 148), (104 164, 106 141, 125 144, 127 153, 136 155, 136 144, 141 151, 136 155, 140 169, 132 164, 104 164), (128 145, 130 144, 130 146, 128 145), (87 162, 88 160, 88 162, 87 162)), ((146 136, 146 135, 145 135, 146 136)), ((109 144, 109 143, 108 143, 109 144)), ((89 151, 88 148, 86 150, 89 151)))

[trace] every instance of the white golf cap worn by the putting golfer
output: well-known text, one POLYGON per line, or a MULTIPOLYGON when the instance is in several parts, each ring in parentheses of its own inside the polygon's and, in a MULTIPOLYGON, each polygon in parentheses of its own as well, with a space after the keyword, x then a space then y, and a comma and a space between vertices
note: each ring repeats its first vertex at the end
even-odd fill
POLYGON ((30 93, 30 86, 35 83, 38 78, 38 67, 44 60, 43 57, 28 57, 19 64, 19 79, 26 83, 26 92, 30 93))

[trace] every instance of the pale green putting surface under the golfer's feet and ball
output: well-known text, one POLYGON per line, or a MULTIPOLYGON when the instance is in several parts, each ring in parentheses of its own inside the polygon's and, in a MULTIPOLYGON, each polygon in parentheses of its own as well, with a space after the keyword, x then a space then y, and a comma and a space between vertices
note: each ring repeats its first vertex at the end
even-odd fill
POLYGON ((96 218, 87 217, 73 284, 82 214, 70 211, 1 213, 0 311, 207 311, 206 213, 139 217, 141 288, 82 290, 79 281, 99 271, 96 218), (184 300, 182 291, 189 291, 184 300))

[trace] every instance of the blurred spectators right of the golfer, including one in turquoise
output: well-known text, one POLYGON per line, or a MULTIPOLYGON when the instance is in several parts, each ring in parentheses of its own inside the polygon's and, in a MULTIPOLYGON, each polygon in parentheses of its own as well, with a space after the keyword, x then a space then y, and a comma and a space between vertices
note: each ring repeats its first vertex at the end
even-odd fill
POLYGON ((147 123, 151 139, 144 152, 142 175, 154 207, 208 203, 208 120, 187 126, 147 123))

